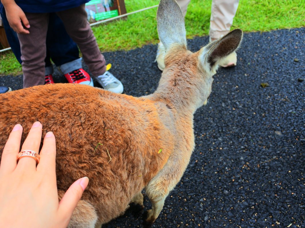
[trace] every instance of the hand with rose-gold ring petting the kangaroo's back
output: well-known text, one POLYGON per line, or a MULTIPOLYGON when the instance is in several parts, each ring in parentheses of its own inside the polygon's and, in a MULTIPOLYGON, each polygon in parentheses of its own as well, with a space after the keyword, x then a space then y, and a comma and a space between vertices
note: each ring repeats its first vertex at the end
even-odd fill
MULTIPOLYGON (((35 122, 22 150, 38 153, 42 126, 35 122)), ((58 200, 55 173, 55 137, 45 135, 36 167, 33 157, 21 157, 17 164, 22 126, 17 124, 5 144, 0 164, 0 227, 67 227, 77 202, 88 185, 78 179, 58 200)))

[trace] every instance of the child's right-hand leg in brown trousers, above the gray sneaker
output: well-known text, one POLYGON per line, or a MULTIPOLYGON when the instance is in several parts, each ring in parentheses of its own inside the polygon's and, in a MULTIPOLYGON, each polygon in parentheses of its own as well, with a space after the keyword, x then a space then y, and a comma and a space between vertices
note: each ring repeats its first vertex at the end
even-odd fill
POLYGON ((101 54, 95 36, 87 21, 85 5, 57 12, 62 19, 67 33, 77 43, 93 76, 99 76, 106 71, 106 60, 101 54))

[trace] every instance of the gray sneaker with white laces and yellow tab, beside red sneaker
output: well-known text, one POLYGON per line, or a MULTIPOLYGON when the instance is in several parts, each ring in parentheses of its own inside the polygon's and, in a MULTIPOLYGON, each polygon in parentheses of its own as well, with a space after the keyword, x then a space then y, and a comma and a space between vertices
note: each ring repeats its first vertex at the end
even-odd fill
POLYGON ((110 68, 111 64, 108 64, 106 67, 107 71, 104 74, 95 77, 96 81, 98 81, 105 90, 123 93, 124 88, 122 83, 108 71, 110 68))

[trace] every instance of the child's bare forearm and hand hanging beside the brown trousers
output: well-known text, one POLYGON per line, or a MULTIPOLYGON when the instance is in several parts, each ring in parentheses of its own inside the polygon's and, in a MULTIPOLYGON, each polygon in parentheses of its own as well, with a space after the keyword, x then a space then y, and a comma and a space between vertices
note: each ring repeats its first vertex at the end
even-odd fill
POLYGON ((24 25, 26 28, 30 28, 29 21, 27 20, 23 10, 14 0, 1 0, 1 2, 4 6, 9 25, 12 27, 12 29, 16 33, 29 34, 29 30, 24 29, 23 27, 24 25))

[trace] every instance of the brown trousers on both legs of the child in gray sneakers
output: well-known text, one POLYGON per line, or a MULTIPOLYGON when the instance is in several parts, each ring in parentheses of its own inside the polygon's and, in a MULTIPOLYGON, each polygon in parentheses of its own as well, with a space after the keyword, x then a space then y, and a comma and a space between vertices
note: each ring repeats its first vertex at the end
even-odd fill
MULTIPOLYGON (((93 76, 106 71, 105 58, 96 43, 95 36, 87 21, 85 5, 56 12, 63 21, 69 36, 77 43, 84 62, 93 76)), ((23 88, 43 85, 45 82, 46 35, 48 13, 25 13, 30 23, 30 34, 18 34, 21 47, 23 88)), ((58 34, 60 36, 60 34, 58 34)))

